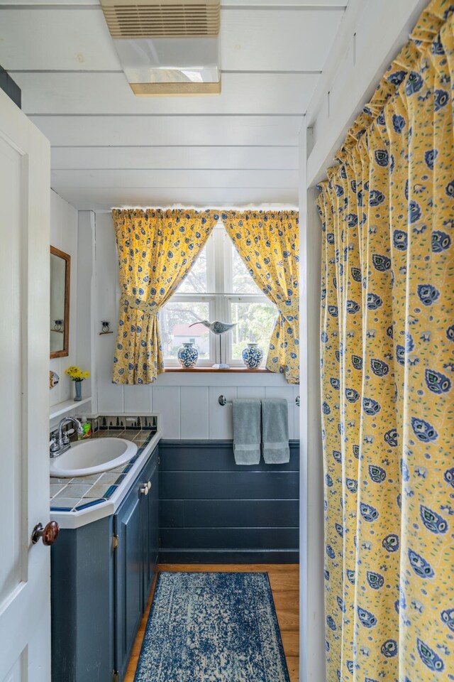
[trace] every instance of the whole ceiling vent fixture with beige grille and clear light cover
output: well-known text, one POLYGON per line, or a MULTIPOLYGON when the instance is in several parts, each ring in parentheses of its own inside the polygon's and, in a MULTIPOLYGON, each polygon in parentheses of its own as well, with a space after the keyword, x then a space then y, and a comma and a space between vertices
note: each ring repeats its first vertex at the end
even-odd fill
POLYGON ((219 94, 219 0, 101 0, 134 94, 219 94))

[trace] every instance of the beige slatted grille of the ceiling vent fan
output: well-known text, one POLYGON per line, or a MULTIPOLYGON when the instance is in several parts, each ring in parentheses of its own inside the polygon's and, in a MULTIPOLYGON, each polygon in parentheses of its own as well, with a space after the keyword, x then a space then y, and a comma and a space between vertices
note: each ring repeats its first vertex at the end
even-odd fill
POLYGON ((112 38, 199 38, 219 33, 218 0, 147 4, 101 0, 101 5, 112 38))

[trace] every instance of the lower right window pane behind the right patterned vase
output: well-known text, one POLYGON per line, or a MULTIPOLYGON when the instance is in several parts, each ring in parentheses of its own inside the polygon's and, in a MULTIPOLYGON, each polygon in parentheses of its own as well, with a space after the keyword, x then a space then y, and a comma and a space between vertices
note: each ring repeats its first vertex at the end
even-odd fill
POLYGON ((258 343, 266 361, 272 330, 275 328, 277 310, 271 301, 245 303, 231 301, 231 320, 238 322, 232 330, 232 359, 241 359, 248 343, 258 343))

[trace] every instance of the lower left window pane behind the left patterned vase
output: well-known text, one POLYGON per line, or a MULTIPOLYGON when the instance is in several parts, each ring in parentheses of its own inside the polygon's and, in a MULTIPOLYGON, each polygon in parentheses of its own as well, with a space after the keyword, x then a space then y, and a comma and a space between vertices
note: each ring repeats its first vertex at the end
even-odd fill
POLYGON ((194 325, 197 320, 209 319, 209 303, 201 301, 170 301, 160 312, 160 335, 164 357, 176 358, 182 343, 192 341, 199 349, 199 359, 209 359, 209 330, 194 325))

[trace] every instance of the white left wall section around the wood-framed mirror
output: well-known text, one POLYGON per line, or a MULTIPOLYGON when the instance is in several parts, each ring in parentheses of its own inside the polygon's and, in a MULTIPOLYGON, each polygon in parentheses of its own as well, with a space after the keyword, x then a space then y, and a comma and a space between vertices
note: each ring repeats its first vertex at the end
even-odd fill
POLYGON ((55 388, 50 389, 50 406, 73 397, 74 386, 65 369, 77 364, 77 210, 50 190, 50 245, 71 256, 70 291, 70 354, 50 360, 50 369, 60 377, 55 388))

